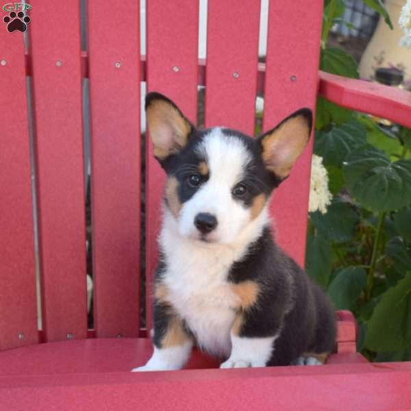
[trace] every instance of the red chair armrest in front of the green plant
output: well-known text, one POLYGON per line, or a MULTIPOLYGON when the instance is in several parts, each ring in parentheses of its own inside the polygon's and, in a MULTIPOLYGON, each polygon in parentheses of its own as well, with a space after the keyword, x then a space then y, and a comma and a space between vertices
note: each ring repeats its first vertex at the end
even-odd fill
POLYGON ((320 94, 343 107, 411 127, 411 92, 320 71, 320 94))

